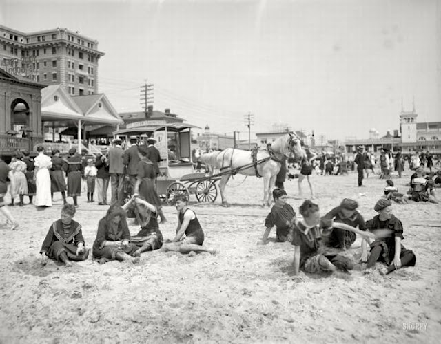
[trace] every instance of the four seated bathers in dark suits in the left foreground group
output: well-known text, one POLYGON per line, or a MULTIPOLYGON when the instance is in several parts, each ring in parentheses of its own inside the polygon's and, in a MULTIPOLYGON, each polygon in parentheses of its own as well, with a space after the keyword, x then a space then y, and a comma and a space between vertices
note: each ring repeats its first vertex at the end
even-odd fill
MULTIPOLYGON (((100 264, 110 260, 139 263, 142 252, 163 248, 165 251, 176 251, 195 255, 197 252, 214 254, 214 248, 203 246, 205 235, 194 211, 188 208, 184 195, 175 197, 178 211, 176 236, 171 241, 163 241, 158 226, 158 209, 141 197, 132 197, 124 206, 113 204, 105 217, 98 224, 96 239, 92 246, 92 257, 100 264), (127 225, 127 213, 134 213, 141 230, 130 235, 127 225)), ((65 204, 61 210, 61 218, 49 228, 41 246, 41 263, 45 265, 48 258, 72 266, 71 261, 88 259, 89 249, 85 248, 85 240, 81 224, 74 221, 76 208, 65 204)))

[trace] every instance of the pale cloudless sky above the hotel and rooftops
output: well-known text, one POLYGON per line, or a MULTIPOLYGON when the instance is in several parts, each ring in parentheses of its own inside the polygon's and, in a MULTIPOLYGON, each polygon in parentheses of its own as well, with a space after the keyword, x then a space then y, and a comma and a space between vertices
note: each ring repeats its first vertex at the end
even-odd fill
POLYGON ((99 41, 99 92, 215 133, 274 125, 326 140, 441 120, 441 0, 0 0, 0 23, 99 41))

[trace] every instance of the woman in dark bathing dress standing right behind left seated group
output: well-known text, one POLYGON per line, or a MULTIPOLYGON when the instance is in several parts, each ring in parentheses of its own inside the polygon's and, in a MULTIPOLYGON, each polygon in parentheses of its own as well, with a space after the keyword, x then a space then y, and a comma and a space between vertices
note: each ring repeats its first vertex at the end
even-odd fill
POLYGON ((153 204, 161 217, 161 223, 166 222, 165 216, 162 212, 161 200, 159 200, 158 193, 156 193, 156 186, 154 180, 156 179, 156 171, 154 164, 149 160, 149 151, 147 147, 138 146, 138 154, 141 159, 138 162, 138 173, 136 176, 136 183, 134 188, 134 195, 139 194, 148 203, 153 204))

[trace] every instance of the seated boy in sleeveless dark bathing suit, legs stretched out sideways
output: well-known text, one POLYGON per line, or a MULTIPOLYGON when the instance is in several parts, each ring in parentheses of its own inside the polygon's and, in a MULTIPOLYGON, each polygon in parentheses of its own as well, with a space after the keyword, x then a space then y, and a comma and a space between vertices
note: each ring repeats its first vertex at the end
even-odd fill
POLYGON ((171 242, 163 244, 163 250, 165 252, 175 251, 181 253, 209 252, 214 255, 216 253, 214 248, 202 246, 205 235, 196 214, 187 206, 187 197, 185 195, 176 195, 174 202, 178 211, 176 236, 171 242), (184 234, 185 237, 183 238, 184 234))

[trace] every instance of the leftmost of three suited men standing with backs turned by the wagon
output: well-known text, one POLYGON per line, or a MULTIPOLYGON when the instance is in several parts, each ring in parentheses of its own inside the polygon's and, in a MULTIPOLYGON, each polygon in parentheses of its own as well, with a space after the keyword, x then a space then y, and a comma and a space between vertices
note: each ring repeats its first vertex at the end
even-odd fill
POLYGON ((123 141, 121 138, 113 140, 113 146, 109 149, 109 173, 110 173, 110 189, 112 190, 112 204, 118 202, 119 205, 124 204, 124 151, 121 148, 123 141))

